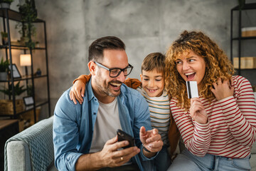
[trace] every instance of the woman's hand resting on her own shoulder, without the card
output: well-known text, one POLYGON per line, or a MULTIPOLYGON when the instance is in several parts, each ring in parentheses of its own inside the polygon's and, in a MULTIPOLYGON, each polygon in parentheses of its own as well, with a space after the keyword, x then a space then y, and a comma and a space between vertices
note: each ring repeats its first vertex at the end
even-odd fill
POLYGON ((210 90, 215 95, 217 100, 222 100, 224 98, 228 98, 234 94, 233 80, 231 81, 225 80, 221 81, 221 78, 218 78, 217 83, 213 83, 213 87, 210 90), (231 85, 230 85, 231 83, 231 85))

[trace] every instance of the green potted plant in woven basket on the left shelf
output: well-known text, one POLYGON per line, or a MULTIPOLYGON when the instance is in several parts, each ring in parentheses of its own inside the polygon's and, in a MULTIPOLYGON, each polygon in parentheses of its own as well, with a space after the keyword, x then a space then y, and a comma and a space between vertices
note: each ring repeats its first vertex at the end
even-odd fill
MULTIPOLYGON (((20 81, 16 83, 14 86, 14 95, 21 95, 21 93, 26 91, 26 88, 23 88, 24 86, 20 86, 20 81)), ((6 94, 6 95, 12 95, 12 84, 9 84, 9 87, 7 89, 0 90, 0 92, 6 94)), ((0 100, 1 103, 1 110, 0 114, 2 115, 13 115, 14 114, 14 103, 12 100, 0 100)), ((23 110, 23 100, 18 99, 15 100, 15 110, 16 113, 19 113, 23 110)))

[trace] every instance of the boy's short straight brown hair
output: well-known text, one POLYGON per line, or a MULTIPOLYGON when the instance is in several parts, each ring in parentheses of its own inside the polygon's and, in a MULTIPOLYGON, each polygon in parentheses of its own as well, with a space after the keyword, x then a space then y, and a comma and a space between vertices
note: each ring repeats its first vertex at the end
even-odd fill
POLYGON ((162 53, 149 53, 142 61, 142 71, 154 71, 156 69, 159 73, 164 73, 165 56, 162 53))

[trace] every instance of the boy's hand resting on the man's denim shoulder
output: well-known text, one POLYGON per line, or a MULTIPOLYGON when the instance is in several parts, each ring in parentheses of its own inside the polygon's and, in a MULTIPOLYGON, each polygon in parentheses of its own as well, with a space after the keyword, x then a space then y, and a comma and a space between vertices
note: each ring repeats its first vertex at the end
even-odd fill
POLYGON ((82 83, 82 81, 75 81, 73 87, 70 89, 70 100, 73 100, 75 105, 77 104, 76 100, 80 104, 82 104, 83 96, 85 94, 85 83, 82 83))

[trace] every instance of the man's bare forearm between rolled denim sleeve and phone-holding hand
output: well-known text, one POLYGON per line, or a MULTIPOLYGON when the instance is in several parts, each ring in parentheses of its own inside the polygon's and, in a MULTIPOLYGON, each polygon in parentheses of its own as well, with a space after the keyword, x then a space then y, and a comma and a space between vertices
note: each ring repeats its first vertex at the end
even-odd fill
POLYGON ((100 152, 81 155, 75 164, 75 170, 99 170, 105 167, 99 154, 100 152))

